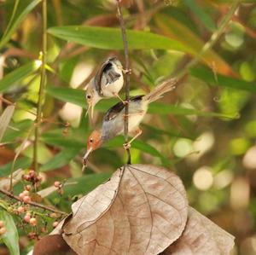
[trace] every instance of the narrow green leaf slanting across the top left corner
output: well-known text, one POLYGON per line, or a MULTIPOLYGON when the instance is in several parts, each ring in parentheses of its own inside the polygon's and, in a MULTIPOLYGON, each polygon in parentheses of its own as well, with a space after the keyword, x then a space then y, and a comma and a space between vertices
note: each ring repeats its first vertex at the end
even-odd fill
POLYGON ((3 48, 5 43, 9 42, 9 39, 12 37, 17 27, 20 26, 21 22, 26 18, 26 15, 29 14, 41 1, 42 0, 33 0, 31 3, 26 5, 26 8, 23 9, 23 11, 15 17, 14 20, 10 20, 11 24, 9 24, 8 30, 4 32, 3 38, 1 38, 0 49, 3 48))

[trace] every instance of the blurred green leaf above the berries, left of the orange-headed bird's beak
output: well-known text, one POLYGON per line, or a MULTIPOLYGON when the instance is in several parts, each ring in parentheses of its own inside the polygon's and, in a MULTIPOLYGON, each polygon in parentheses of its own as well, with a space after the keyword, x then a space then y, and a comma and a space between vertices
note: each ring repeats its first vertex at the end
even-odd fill
POLYGON ((81 148, 63 148, 60 153, 56 154, 53 159, 49 159, 41 166, 40 171, 50 171, 61 166, 67 165, 77 154, 81 148))

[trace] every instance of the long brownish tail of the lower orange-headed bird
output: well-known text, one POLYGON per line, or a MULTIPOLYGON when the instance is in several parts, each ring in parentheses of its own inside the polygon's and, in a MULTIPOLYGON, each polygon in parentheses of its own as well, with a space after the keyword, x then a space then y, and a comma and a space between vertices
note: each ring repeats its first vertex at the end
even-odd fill
POLYGON ((148 103, 152 101, 156 101, 162 97, 168 91, 175 89, 175 84, 177 83, 176 78, 170 78, 160 85, 157 85, 154 90, 148 93, 148 95, 144 96, 143 100, 148 101, 148 103))

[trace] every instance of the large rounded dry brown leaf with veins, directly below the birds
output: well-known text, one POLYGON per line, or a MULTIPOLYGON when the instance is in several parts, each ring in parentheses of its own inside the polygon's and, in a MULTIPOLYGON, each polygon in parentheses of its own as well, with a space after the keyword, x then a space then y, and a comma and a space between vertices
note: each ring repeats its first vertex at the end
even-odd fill
POLYGON ((63 238, 78 254, 158 254, 182 234, 188 202, 174 173, 129 165, 72 206, 63 238))

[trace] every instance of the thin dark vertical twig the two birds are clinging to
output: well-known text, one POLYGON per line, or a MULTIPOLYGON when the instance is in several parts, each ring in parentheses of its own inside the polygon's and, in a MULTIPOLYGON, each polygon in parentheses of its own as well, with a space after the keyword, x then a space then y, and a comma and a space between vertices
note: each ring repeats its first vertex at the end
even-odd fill
MULTIPOLYGON (((122 9, 120 6, 120 0, 116 0, 116 2, 117 2, 117 12, 118 12, 118 16, 119 16, 119 23, 120 23, 120 28, 121 28, 122 38, 123 38, 123 43, 124 43, 125 70, 129 71, 130 63, 129 63, 129 53, 128 53, 128 42, 127 42, 126 31, 125 31, 125 22, 124 22, 124 18, 123 18, 123 14, 122 14, 122 9)), ((129 114, 129 101, 130 101, 130 74, 129 74, 129 72, 125 73, 125 101, 127 103, 125 104, 124 136, 125 136, 125 142, 128 142, 128 122, 129 122, 128 114, 129 114)), ((128 155, 127 164, 131 164, 130 148, 126 148, 126 152, 128 155)))

